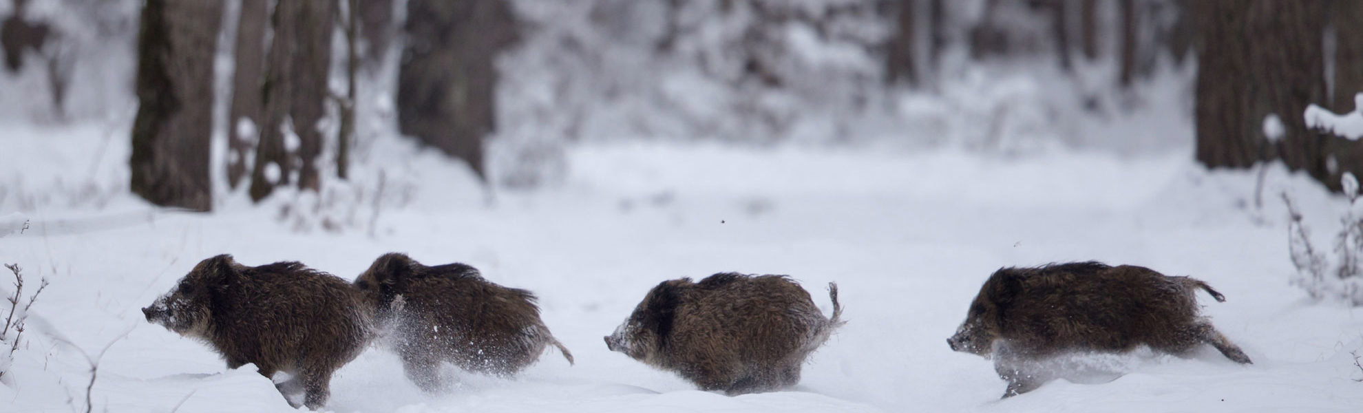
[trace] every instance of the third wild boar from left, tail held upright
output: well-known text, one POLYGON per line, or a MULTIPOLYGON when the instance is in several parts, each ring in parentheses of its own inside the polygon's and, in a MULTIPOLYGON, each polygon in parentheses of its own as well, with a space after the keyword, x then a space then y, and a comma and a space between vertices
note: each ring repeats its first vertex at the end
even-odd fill
POLYGON ((605 337, 612 352, 673 371, 702 390, 736 395, 800 382, 804 358, 842 326, 838 288, 833 318, 784 275, 721 273, 701 282, 664 281, 605 337))

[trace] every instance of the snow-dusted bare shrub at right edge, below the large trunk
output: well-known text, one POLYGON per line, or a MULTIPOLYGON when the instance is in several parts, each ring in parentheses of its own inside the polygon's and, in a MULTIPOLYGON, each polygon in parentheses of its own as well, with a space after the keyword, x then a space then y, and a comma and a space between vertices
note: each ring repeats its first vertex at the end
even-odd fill
POLYGON ((1311 299, 1341 300, 1351 305, 1363 305, 1363 209, 1359 200, 1359 183, 1352 173, 1341 179, 1344 195, 1349 204, 1340 217, 1340 229, 1334 236, 1333 254, 1326 254, 1311 245, 1311 233, 1302 224, 1302 213, 1292 204, 1292 198, 1283 194, 1288 214, 1288 252, 1296 267, 1292 285, 1300 286, 1311 299))

